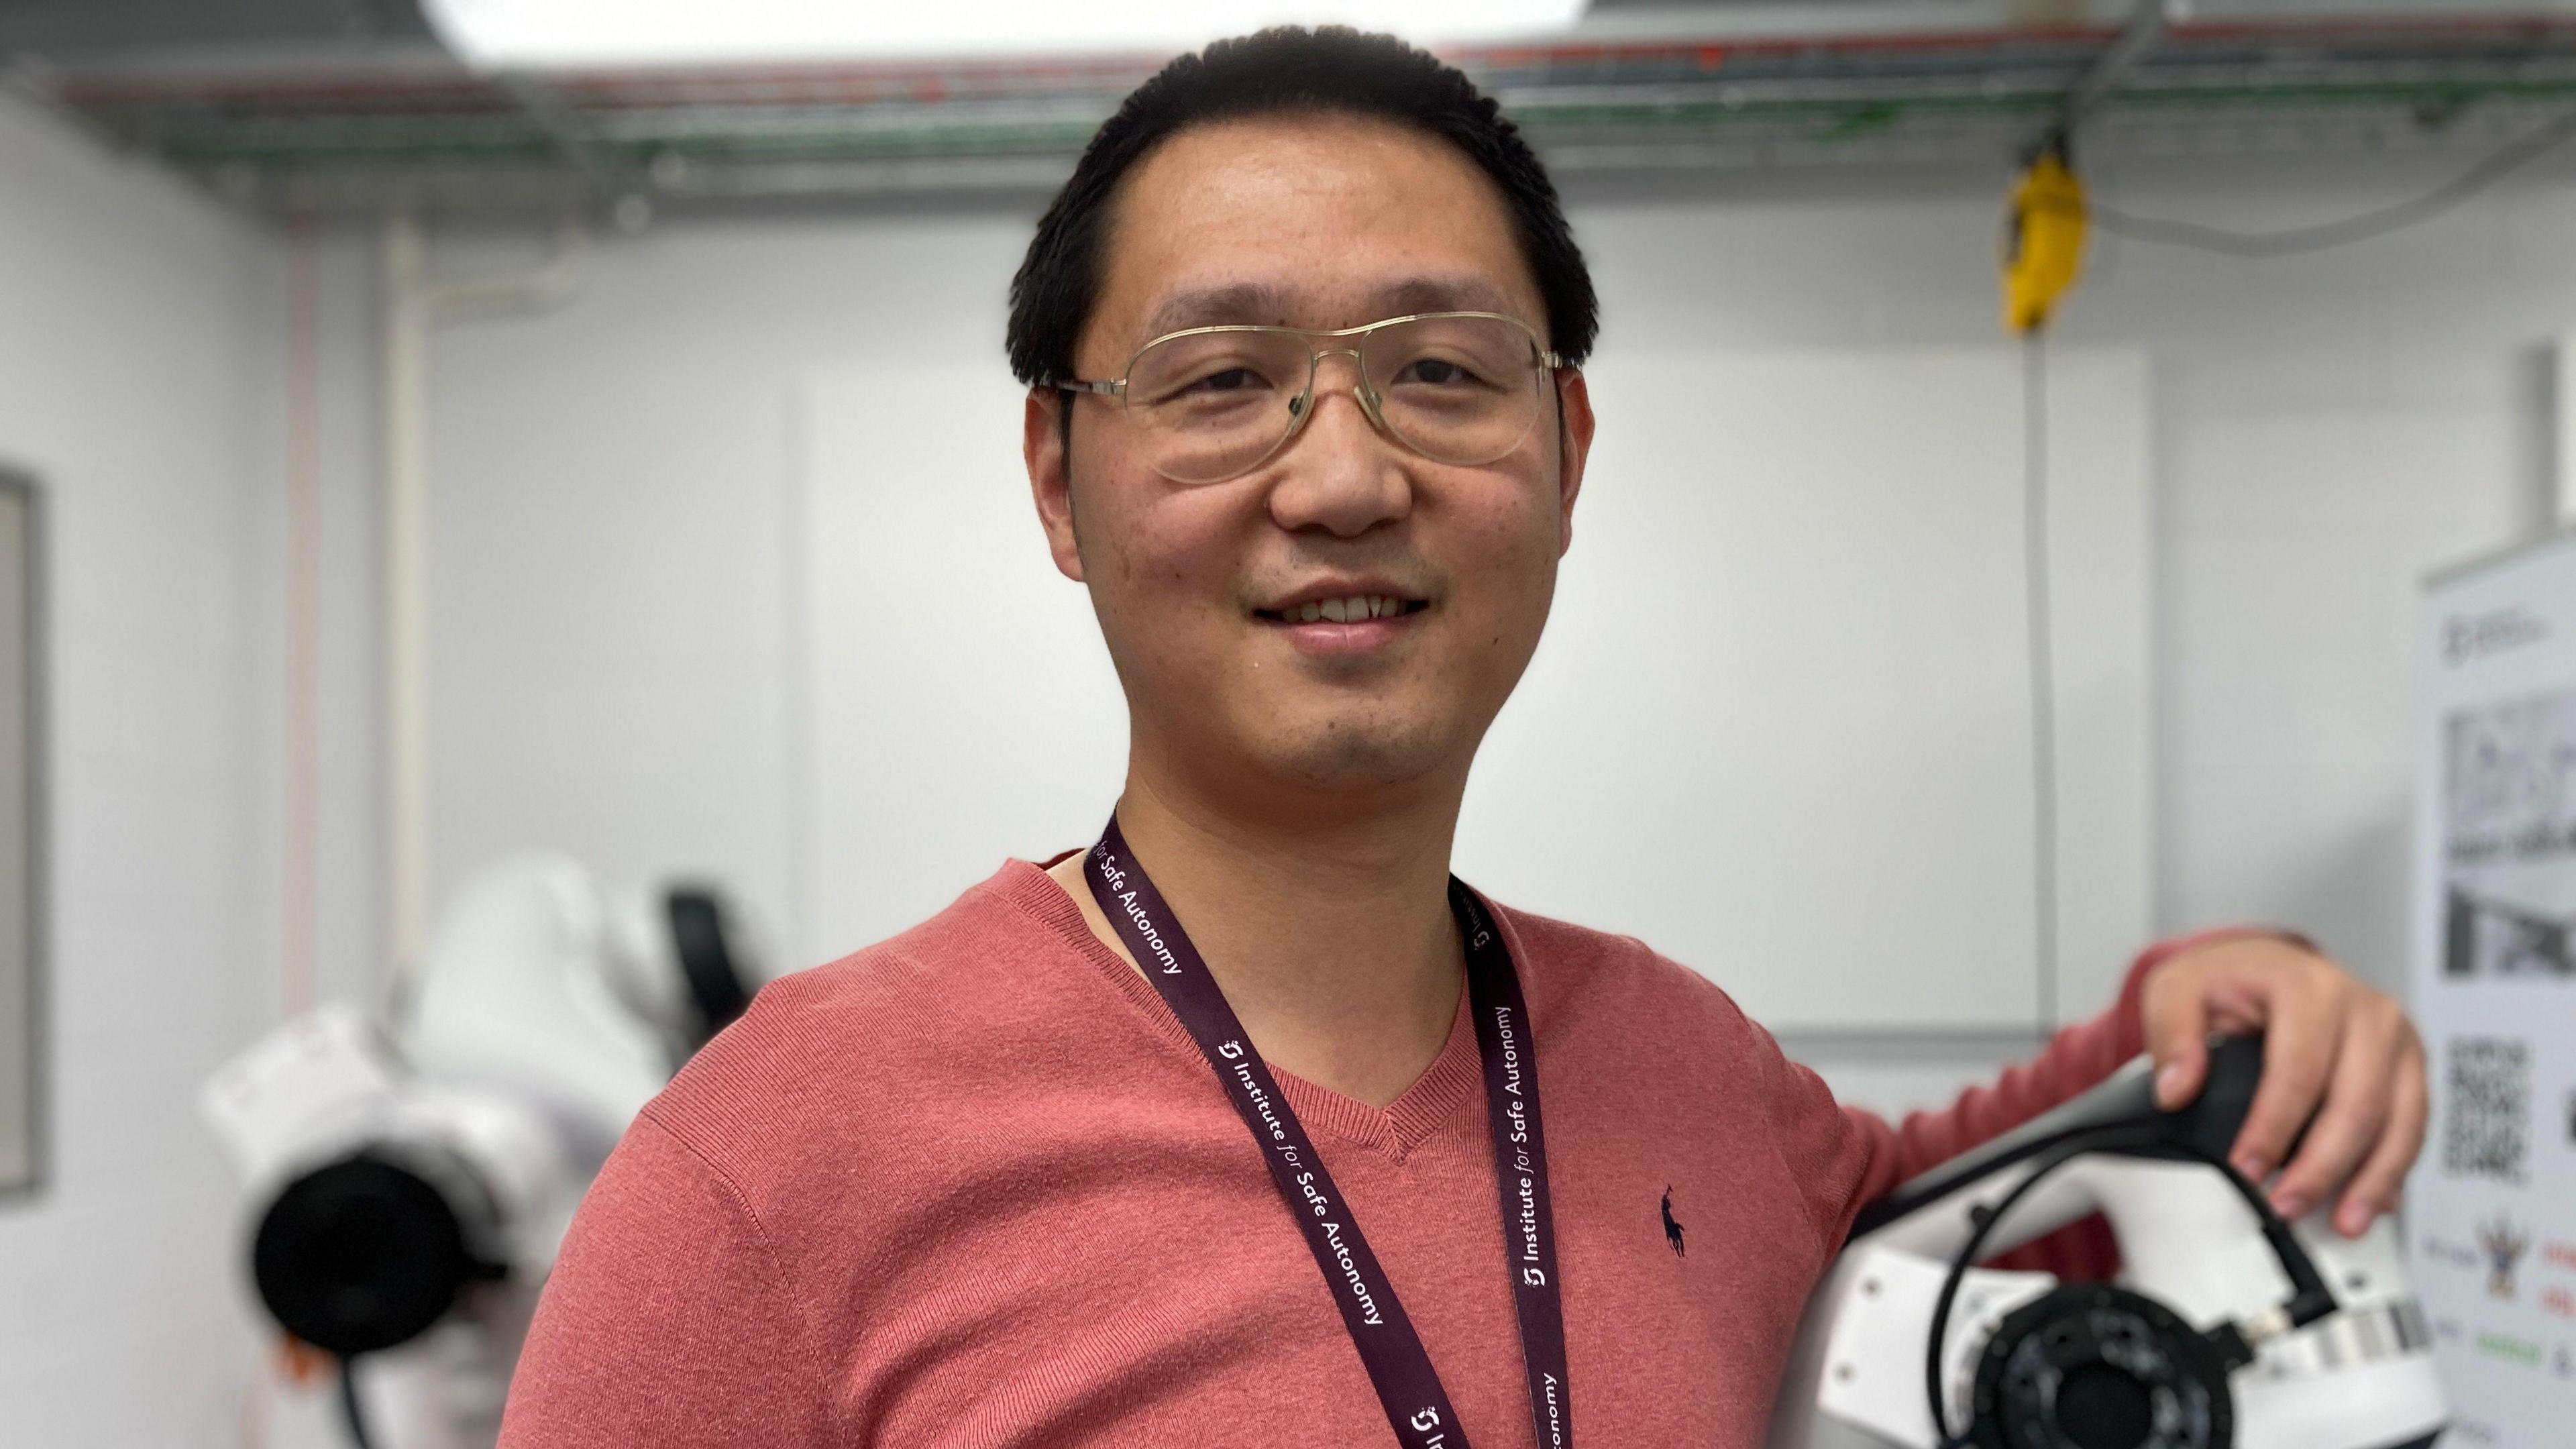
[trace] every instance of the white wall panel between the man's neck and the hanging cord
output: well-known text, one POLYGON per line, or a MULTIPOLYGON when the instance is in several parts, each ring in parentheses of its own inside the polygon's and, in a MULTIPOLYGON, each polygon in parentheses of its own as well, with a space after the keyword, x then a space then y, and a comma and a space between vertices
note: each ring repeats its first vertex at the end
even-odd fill
POLYGON ((1620 353, 1466 879, 1772 1026, 2032 1021, 2020 371, 1620 353))

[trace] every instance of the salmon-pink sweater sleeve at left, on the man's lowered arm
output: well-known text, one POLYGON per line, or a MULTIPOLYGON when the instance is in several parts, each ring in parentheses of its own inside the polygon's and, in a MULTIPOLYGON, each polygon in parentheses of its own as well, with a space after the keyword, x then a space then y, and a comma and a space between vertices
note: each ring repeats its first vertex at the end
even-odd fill
POLYGON ((500 1449, 829 1441, 811 1315, 724 1173, 647 1109, 582 1199, 500 1449))

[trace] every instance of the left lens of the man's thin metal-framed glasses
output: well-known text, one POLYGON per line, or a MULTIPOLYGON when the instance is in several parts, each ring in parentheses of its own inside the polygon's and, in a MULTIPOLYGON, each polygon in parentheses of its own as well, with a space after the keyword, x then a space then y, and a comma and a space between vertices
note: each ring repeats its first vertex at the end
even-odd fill
POLYGON ((1175 482, 1224 482, 1270 456, 1296 428, 1306 338, 1216 330, 1164 338, 1128 366, 1128 413, 1175 482))

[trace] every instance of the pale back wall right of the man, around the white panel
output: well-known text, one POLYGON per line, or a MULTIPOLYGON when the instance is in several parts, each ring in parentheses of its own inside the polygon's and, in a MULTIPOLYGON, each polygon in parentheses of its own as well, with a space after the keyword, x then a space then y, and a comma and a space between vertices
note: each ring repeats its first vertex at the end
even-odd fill
MULTIPOLYGON (((2136 211, 2339 217, 2458 160, 2130 165, 2136 211)), ((1991 193, 1584 214, 1610 338, 1991 335, 1991 193)), ((2066 343, 2154 358, 2159 920, 2282 920, 2403 982, 2414 580, 2535 529, 2540 348, 2576 312, 2576 186, 2512 183, 2414 232, 2246 263, 2105 237, 2066 343)))

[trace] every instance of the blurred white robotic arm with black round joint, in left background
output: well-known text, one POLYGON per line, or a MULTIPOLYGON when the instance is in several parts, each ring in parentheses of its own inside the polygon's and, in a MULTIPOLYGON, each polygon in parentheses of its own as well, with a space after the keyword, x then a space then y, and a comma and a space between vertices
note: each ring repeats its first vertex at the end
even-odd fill
POLYGON ((343 1361, 361 1444, 368 1421, 381 1449, 492 1441, 574 1204, 636 1109, 742 1013, 744 959, 706 890, 611 900, 577 864, 526 856, 459 892, 389 1031, 325 1006, 206 1083, 252 1204, 258 1297, 343 1361))

